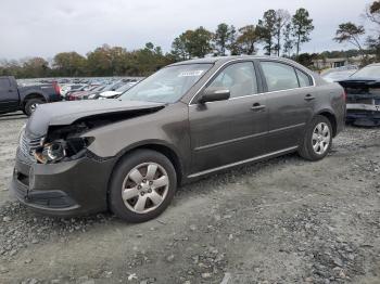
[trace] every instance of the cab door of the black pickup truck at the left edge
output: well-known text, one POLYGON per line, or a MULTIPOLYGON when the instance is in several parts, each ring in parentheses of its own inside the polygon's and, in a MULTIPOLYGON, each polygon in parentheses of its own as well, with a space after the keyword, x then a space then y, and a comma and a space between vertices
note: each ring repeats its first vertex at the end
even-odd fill
POLYGON ((0 112, 18 108, 18 92, 16 86, 7 77, 0 78, 0 112))

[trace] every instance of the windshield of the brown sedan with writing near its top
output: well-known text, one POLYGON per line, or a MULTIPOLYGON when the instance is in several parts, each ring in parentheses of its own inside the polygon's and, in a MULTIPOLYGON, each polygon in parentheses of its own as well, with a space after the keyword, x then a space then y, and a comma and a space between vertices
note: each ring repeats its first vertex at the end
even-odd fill
POLYGON ((165 67, 131 89, 119 99, 156 103, 174 103, 211 68, 212 64, 185 64, 165 67))

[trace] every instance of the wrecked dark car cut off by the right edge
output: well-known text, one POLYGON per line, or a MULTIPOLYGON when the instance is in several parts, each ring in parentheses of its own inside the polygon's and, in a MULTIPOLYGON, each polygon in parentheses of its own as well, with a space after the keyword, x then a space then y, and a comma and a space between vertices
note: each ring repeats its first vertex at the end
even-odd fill
POLYGON ((380 126, 380 64, 370 64, 339 83, 347 93, 346 121, 380 126))

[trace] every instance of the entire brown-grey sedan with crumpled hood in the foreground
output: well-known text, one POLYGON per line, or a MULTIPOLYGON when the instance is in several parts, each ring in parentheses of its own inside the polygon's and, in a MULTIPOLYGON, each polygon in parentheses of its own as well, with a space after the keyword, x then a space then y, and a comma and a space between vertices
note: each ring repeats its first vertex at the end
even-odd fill
POLYGON ((117 100, 38 106, 11 188, 46 214, 142 222, 183 182, 292 152, 324 158, 344 115, 341 86, 286 59, 180 62, 117 100))

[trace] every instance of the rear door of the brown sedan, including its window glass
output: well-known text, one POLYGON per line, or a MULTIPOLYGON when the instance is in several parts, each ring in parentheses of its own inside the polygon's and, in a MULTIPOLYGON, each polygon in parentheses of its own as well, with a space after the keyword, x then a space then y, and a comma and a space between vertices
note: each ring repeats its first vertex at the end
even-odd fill
POLYGON ((259 65, 268 107, 268 151, 297 146, 314 114, 313 79, 283 62, 263 60, 259 65))

